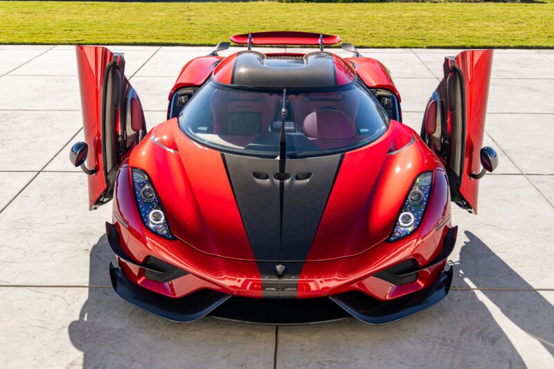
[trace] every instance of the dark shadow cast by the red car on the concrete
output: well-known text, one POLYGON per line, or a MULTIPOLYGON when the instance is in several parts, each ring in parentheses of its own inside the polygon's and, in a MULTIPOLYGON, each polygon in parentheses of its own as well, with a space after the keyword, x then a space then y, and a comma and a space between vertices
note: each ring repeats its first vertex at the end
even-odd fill
MULTIPOLYGON (((463 366, 523 367, 517 348, 474 291, 502 279, 530 288, 498 255, 465 232, 454 287, 443 303, 385 326, 354 319, 337 323, 279 327, 277 366, 463 366)), ((458 242, 461 242, 458 237, 458 242)), ((83 353, 84 368, 274 366, 274 327, 203 318, 171 323, 136 309, 111 289, 108 263, 114 260, 106 235, 90 253, 89 296, 71 342, 83 353)), ((510 321, 542 341, 554 354, 554 309, 537 291, 483 291, 510 321)))

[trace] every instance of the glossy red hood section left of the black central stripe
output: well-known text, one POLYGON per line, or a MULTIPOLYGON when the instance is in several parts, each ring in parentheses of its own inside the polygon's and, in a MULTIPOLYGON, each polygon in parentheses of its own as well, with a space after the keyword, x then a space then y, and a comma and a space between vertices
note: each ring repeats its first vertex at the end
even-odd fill
POLYGON ((148 172, 174 235, 204 253, 253 260, 221 153, 191 141, 177 119, 154 127, 129 165, 148 172))

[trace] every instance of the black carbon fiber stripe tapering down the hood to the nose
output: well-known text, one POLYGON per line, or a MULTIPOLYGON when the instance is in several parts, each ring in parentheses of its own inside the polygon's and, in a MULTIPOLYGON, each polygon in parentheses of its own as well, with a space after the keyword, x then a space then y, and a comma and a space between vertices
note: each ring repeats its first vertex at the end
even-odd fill
MULTIPOLYGON (((285 266, 287 291, 274 290, 274 280, 262 280, 268 296, 296 296, 298 276, 312 246, 327 204, 341 155, 289 159, 285 171, 290 179, 274 179, 279 161, 252 156, 222 154, 231 186, 262 276, 276 276, 276 265, 285 266), (267 173, 257 179, 253 172, 267 173), (309 173, 307 179, 296 174, 309 173), (291 290, 290 284, 296 285, 291 290), (291 291, 294 291, 292 294, 291 291)), ((258 176, 260 177, 260 176, 258 176)))

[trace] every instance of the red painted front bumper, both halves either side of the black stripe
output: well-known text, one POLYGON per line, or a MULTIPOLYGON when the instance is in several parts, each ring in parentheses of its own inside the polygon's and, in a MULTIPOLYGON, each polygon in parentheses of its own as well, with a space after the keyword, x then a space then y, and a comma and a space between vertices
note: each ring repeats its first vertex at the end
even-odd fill
MULTIPOLYGON (((213 289, 245 297, 262 296, 255 261, 208 255, 181 240, 165 240, 148 231, 139 219, 130 183, 129 168, 125 164, 118 174, 114 202, 114 223, 124 250, 136 261, 154 255, 191 274, 167 283, 153 282, 144 278, 142 269, 120 260, 120 266, 129 280, 171 297, 185 296, 198 289, 213 289)), ((418 231, 397 242, 380 242, 359 255, 306 262, 298 282, 298 298, 330 296, 357 289, 375 298, 388 300, 430 285, 438 278, 440 265, 421 271, 418 280, 404 286, 394 286, 370 275, 406 258, 415 258, 420 265, 425 265, 436 257, 450 225, 449 213, 447 179, 443 170, 436 170, 427 215, 418 231)))

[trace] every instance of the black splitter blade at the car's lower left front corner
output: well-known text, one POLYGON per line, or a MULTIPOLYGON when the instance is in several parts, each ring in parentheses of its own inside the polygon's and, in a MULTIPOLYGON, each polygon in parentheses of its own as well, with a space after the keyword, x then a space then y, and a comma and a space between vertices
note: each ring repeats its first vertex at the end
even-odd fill
POLYGON ((176 323, 196 321, 231 297, 205 289, 181 298, 170 298, 135 285, 125 278, 121 269, 111 263, 109 277, 116 294, 128 303, 176 323))

